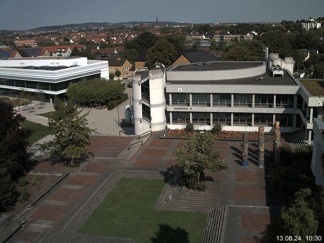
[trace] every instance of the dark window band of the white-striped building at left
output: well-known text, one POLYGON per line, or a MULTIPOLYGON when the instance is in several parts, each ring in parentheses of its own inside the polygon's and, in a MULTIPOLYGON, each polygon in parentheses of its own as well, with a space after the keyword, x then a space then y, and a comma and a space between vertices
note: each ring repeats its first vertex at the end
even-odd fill
POLYGON ((46 82, 36 82, 36 81, 29 81, 29 80, 19 80, 19 79, 8 79, 8 78, 0 78, 0 85, 4 86, 12 86, 12 87, 19 87, 21 89, 36 89, 36 90, 49 90, 49 91, 60 91, 65 90, 70 84, 75 84, 80 82, 84 79, 92 79, 95 77, 100 78, 100 74, 89 75, 85 77, 79 77, 70 79, 67 81, 59 82, 59 83, 46 83, 46 82))

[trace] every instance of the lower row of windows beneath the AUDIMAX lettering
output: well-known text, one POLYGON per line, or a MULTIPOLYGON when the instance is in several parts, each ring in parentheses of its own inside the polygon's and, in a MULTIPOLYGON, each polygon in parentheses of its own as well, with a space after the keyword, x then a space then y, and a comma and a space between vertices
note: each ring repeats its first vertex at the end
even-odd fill
MULTIPOLYGON (((284 127, 293 126, 293 114, 275 114, 275 119, 280 121, 280 125, 284 127)), ((189 112, 172 112, 173 124, 190 123, 189 112)), ((211 125, 211 113, 208 112, 192 112, 192 123, 199 125, 211 125)), ((231 126, 231 113, 213 113, 213 124, 221 124, 231 126)), ((252 126, 252 113, 233 113, 234 126, 252 126)), ((273 114, 255 113, 255 126, 272 126, 273 114)))

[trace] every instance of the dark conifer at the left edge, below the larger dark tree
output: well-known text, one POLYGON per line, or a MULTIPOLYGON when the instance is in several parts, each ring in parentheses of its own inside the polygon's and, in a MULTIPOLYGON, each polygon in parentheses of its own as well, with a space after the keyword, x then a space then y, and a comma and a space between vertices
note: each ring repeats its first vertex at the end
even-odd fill
POLYGON ((18 198, 16 183, 6 168, 0 169, 0 212, 12 210, 18 198))

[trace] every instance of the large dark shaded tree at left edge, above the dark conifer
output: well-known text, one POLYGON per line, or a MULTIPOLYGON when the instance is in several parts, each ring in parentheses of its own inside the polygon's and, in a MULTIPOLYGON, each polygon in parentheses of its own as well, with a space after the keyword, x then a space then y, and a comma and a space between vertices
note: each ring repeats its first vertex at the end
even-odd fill
POLYGON ((27 160, 26 148, 30 130, 21 129, 24 117, 15 114, 13 107, 0 99, 0 168, 18 178, 27 160))

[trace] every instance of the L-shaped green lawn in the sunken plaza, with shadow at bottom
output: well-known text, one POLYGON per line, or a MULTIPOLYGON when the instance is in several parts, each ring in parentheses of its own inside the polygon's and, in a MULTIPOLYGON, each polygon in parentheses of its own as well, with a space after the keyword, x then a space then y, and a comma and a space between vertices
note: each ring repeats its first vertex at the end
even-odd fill
POLYGON ((153 210, 165 185, 158 179, 121 178, 78 232, 138 243, 203 241, 207 213, 153 210))

